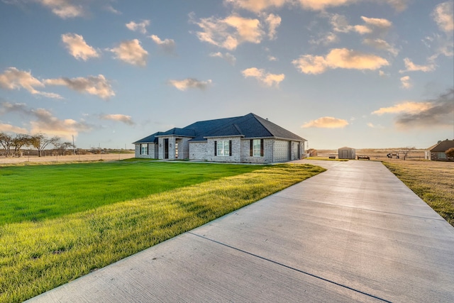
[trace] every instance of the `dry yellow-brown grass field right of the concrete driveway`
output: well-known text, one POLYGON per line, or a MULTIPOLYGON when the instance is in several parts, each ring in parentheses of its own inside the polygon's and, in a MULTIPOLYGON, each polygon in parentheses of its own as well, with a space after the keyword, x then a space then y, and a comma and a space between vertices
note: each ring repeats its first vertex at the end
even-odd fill
POLYGON ((453 162, 388 160, 383 164, 454 226, 453 162))

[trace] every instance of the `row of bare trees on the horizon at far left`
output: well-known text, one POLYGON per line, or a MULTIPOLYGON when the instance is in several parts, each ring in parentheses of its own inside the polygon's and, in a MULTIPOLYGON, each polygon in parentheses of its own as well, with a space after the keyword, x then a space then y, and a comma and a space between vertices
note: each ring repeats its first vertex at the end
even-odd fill
POLYGON ((0 145, 5 150, 5 157, 15 155, 21 156, 21 148, 30 147, 38 150, 38 156, 41 157, 43 150, 50 145, 53 145, 59 153, 65 155, 65 152, 69 148, 75 148, 75 146, 66 141, 62 141, 59 136, 46 136, 43 133, 37 133, 35 135, 26 135, 23 133, 16 133, 16 135, 9 135, 8 133, 0 132, 0 145))

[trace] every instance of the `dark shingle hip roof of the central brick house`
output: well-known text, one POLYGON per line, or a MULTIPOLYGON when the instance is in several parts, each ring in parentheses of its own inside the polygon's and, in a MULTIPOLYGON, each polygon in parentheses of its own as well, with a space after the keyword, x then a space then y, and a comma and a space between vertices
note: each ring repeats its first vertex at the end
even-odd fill
POLYGON ((198 121, 184 128, 172 128, 169 131, 154 133, 134 143, 157 142, 157 136, 172 135, 192 137, 191 141, 206 141, 206 138, 224 136, 306 141, 287 129, 251 113, 232 118, 198 121))

